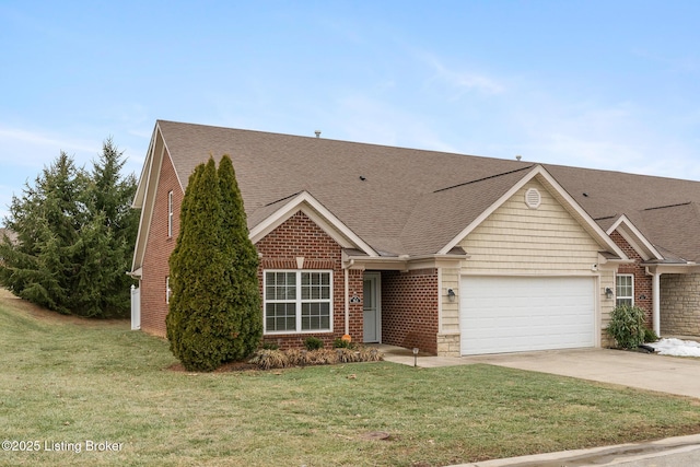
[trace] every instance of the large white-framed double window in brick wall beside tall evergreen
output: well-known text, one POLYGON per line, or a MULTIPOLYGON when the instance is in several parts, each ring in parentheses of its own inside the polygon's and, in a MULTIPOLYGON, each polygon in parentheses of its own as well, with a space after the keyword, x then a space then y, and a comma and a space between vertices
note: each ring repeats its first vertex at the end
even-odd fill
POLYGON ((265 332, 332 330, 332 272, 265 271, 265 332))

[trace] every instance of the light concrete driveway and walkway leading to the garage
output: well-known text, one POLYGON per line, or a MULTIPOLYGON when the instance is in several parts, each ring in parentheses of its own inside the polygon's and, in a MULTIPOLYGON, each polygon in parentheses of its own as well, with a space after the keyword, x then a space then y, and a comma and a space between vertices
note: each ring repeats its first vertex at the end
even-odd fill
MULTIPOLYGON (((387 361, 413 365, 410 350, 382 346, 387 361)), ((488 363, 700 399, 700 359, 610 349, 547 350, 462 358, 419 354, 418 366, 488 363)))

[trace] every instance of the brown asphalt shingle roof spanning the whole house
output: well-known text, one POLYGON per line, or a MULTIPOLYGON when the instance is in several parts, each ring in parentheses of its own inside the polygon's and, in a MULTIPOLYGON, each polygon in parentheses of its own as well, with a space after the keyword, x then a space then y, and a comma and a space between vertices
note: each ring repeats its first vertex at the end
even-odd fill
MULTIPOLYGON (((535 165, 164 120, 156 125, 183 188, 210 155, 231 156, 249 227, 280 200, 308 191, 384 255, 436 253, 535 165)), ((542 165, 603 229, 626 214, 669 255, 700 259, 700 182, 542 165)))

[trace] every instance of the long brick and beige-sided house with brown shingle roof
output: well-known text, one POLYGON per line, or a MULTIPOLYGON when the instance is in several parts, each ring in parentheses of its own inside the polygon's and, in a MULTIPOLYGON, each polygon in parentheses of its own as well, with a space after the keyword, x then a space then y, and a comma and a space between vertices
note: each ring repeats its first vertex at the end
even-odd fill
POLYGON ((700 336, 700 183, 158 121, 133 206, 143 330, 164 336, 188 177, 229 154, 266 341, 443 355, 600 347, 618 303, 700 336))

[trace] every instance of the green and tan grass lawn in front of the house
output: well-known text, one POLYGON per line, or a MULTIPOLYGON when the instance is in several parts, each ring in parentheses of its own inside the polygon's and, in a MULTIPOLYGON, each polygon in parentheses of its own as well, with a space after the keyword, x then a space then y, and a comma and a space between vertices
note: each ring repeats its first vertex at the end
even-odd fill
POLYGON ((3 466, 438 466, 700 432, 693 399, 489 365, 175 372, 167 343, 127 323, 7 302, 0 439, 42 451, 0 452, 3 466), (43 451, 60 442, 82 452, 43 451))

